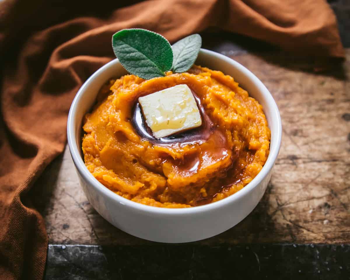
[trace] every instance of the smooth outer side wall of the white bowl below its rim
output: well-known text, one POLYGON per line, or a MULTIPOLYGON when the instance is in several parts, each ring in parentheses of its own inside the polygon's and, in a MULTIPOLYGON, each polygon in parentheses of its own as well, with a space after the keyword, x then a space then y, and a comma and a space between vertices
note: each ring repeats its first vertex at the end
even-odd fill
POLYGON ((87 199, 96 211, 117 228, 139 238, 165 243, 186 243, 209 238, 222 233, 242 221, 257 206, 261 192, 266 190, 271 172, 250 193, 236 203, 225 204, 211 211, 171 213, 140 211, 116 202, 92 188, 78 172, 87 199))

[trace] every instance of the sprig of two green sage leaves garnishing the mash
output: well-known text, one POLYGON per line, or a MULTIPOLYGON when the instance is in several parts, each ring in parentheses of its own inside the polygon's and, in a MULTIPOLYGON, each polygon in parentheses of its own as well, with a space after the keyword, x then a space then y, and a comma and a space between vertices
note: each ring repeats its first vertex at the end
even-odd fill
POLYGON ((123 29, 112 37, 113 51, 121 65, 143 79, 165 76, 169 70, 186 72, 194 64, 201 45, 199 34, 171 46, 162 35, 140 28, 123 29))

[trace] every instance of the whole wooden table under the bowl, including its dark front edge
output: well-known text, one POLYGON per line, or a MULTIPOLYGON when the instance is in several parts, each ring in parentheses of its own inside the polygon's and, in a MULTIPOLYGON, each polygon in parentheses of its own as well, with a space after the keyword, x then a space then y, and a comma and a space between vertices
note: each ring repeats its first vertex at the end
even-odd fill
POLYGON ((92 208, 66 147, 33 188, 49 236, 46 279, 225 279, 232 269, 236 279, 350 279, 350 48, 343 65, 314 72, 266 44, 205 37, 204 47, 261 79, 280 109, 282 146, 264 197, 218 236, 142 240, 92 208))

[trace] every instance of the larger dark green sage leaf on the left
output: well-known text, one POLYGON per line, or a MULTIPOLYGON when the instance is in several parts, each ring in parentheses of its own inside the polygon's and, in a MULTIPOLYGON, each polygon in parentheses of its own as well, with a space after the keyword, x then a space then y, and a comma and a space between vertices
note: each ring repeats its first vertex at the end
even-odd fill
POLYGON ((123 29, 113 35, 112 47, 121 65, 140 78, 162 77, 172 68, 172 47, 158 33, 139 28, 123 29))

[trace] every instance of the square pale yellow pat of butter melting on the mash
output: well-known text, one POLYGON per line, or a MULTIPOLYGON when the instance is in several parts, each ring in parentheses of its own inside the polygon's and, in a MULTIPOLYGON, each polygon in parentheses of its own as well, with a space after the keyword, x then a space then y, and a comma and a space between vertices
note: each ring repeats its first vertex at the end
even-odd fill
POLYGON ((176 85, 139 98, 155 138, 202 125, 196 100, 187 85, 176 85))

